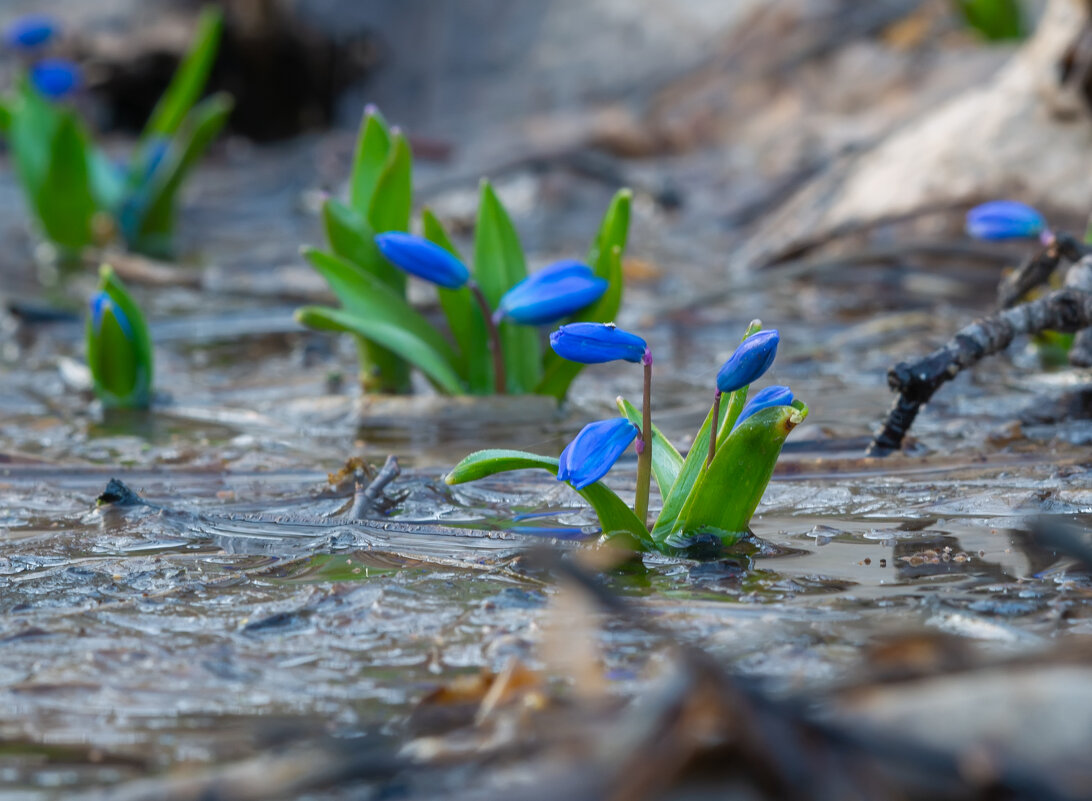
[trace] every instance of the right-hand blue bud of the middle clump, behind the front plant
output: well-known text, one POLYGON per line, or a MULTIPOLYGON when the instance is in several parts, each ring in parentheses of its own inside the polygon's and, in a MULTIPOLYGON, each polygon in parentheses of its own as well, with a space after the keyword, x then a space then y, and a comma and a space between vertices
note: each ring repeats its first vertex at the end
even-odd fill
POLYGON ((594 303, 606 290, 606 279, 596 277, 586 264, 561 261, 505 292, 497 314, 523 325, 545 325, 594 303))

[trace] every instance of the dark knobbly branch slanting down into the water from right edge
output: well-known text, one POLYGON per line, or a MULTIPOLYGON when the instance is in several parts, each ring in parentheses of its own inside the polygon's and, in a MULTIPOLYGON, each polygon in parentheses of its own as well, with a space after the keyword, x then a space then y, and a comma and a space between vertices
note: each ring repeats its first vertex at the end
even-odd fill
POLYGON ((868 449, 870 456, 898 451, 914 418, 933 394, 1017 336, 1041 331, 1076 332, 1092 325, 1092 292, 1066 288, 1038 300, 1006 309, 971 323, 939 350, 913 363, 900 362, 888 373, 888 384, 899 393, 883 430, 868 449))

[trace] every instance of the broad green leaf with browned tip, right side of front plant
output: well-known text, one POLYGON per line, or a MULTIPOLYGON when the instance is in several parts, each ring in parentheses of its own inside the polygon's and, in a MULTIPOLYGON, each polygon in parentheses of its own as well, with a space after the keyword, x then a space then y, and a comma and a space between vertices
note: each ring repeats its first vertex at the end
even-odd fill
POLYGON ((668 539, 709 531, 731 543, 745 534, 773 476, 785 438, 807 416, 808 407, 795 400, 792 406, 762 409, 744 420, 717 447, 713 464, 699 477, 668 539))

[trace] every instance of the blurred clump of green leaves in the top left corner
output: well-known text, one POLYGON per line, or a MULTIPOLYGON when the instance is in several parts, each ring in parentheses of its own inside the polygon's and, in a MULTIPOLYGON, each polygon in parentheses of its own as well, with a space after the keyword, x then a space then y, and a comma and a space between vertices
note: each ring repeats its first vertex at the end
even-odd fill
POLYGON ((159 98, 128 165, 92 142, 79 115, 26 76, 0 104, 0 131, 14 156, 27 204, 45 237, 68 254, 119 234, 154 256, 171 250, 178 191, 223 128, 232 98, 200 100, 216 57, 222 15, 210 7, 159 98))

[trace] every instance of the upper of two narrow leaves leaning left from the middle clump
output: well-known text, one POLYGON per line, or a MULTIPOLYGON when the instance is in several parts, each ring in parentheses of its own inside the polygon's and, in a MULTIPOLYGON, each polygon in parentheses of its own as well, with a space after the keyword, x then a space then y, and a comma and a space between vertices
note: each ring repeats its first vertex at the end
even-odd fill
POLYGON ((373 275, 361 273, 349 262, 331 253, 313 248, 305 248, 302 253, 319 275, 327 279, 345 311, 405 328, 414 338, 428 345, 454 372, 458 359, 451 345, 397 292, 373 275))

